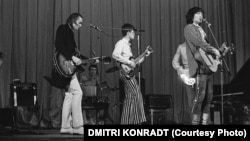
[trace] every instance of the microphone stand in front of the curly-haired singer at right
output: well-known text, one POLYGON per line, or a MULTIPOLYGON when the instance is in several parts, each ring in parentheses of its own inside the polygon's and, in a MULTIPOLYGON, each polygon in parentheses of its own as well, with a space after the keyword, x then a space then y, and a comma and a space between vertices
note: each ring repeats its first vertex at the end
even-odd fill
MULTIPOLYGON (((217 47, 217 49, 219 50, 219 44, 218 44, 218 42, 217 42, 217 40, 216 40, 216 38, 215 38, 215 36, 214 36, 214 34, 213 34, 213 31, 211 30, 211 24, 210 23, 208 23, 207 21, 205 21, 207 24, 208 24, 208 29, 209 29, 209 31, 210 31, 210 33, 211 33, 211 35, 212 35, 212 37, 213 37, 213 39, 214 39, 214 41, 215 41, 215 44, 216 44, 216 47, 217 47)), ((228 65, 227 65, 227 63, 226 63, 226 61, 225 61, 225 59, 224 59, 224 57, 222 56, 221 57, 221 60, 220 60, 220 62, 221 62, 221 70, 220 70, 220 85, 221 85, 221 124, 224 124, 224 104, 223 104, 223 102, 224 102, 224 97, 223 97, 223 95, 224 95, 224 91, 223 91, 223 89, 224 89, 224 87, 223 87, 223 84, 224 84, 224 77, 223 77, 223 72, 224 72, 224 70, 223 70, 223 63, 224 63, 224 65, 225 65, 225 68, 226 68, 226 70, 227 70, 227 72, 228 72, 228 74, 229 75, 231 75, 231 72, 230 72, 230 70, 229 70, 229 68, 228 68, 228 65)))

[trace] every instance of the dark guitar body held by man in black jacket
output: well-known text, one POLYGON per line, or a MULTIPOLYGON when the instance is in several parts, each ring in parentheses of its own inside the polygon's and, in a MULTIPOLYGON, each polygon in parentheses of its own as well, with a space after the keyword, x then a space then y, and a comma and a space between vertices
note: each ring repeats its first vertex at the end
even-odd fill
POLYGON ((66 58, 58 52, 56 52, 53 56, 53 63, 56 71, 66 78, 72 77, 76 72, 77 66, 73 63, 73 61, 66 60, 66 58))

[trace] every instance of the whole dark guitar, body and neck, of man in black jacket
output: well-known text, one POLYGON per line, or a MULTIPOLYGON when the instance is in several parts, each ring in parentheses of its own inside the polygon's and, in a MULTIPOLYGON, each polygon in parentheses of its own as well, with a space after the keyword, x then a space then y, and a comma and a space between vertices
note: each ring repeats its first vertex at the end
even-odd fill
POLYGON ((81 58, 81 55, 77 55, 77 57, 82 61, 80 65, 76 65, 72 60, 67 60, 61 53, 55 52, 53 56, 53 64, 56 72, 65 78, 70 78, 74 75, 79 66, 96 62, 96 59, 83 59, 81 58))

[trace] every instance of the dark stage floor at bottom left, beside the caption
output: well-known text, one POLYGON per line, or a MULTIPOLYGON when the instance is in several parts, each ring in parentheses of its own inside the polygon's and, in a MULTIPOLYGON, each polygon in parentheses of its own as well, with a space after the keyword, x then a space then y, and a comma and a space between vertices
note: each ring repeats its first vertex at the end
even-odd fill
POLYGON ((1 141, 83 141, 83 135, 60 134, 59 129, 2 130, 1 141))

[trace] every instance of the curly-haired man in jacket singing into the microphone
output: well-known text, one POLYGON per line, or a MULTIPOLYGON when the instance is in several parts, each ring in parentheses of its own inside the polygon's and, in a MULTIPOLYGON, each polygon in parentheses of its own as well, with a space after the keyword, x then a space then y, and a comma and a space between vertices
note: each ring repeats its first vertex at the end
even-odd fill
MULTIPOLYGON (((206 40, 206 33, 200 24, 204 20, 204 11, 200 7, 193 7, 186 14, 187 25, 184 37, 187 43, 187 58, 189 76, 196 78, 196 94, 192 107, 192 124, 207 125, 210 115, 210 103, 213 98, 213 71, 205 63, 200 51, 219 58, 220 52, 206 40)), ((209 60, 209 59, 208 59, 209 60)))

